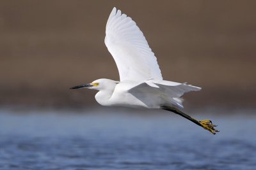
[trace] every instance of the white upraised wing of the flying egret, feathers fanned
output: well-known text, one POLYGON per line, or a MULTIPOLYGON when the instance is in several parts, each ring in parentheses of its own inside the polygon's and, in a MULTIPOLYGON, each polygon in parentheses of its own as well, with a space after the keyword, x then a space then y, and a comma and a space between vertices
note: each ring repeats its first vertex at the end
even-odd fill
POLYGON ((145 36, 132 18, 116 8, 108 18, 105 44, 115 59, 120 81, 163 80, 145 36))

